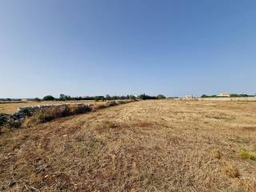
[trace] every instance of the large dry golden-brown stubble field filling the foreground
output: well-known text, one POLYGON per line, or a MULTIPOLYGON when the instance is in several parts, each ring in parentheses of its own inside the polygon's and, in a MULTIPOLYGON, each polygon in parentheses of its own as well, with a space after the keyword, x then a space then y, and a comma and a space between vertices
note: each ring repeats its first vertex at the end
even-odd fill
POLYGON ((151 100, 0 135, 0 191, 256 191, 256 102, 151 100))

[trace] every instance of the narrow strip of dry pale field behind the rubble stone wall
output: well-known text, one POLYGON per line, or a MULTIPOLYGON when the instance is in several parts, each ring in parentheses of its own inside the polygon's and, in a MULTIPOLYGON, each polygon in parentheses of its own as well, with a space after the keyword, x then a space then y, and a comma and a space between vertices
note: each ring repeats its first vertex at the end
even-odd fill
POLYGON ((13 114, 22 106, 58 105, 64 103, 94 103, 94 100, 65 101, 65 102, 0 102, 0 113, 13 114))

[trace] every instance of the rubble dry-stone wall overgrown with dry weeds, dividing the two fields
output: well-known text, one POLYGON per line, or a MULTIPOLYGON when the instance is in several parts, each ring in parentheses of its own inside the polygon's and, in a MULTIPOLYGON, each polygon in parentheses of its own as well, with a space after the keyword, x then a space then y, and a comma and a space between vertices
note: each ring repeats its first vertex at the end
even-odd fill
POLYGON ((23 106, 19 107, 14 114, 0 114, 0 126, 18 128, 29 119, 29 122, 42 123, 50 122, 55 118, 63 118, 75 114, 85 114, 90 111, 105 109, 110 106, 118 106, 138 100, 114 100, 98 104, 97 102, 85 103, 65 103, 44 106, 23 106))

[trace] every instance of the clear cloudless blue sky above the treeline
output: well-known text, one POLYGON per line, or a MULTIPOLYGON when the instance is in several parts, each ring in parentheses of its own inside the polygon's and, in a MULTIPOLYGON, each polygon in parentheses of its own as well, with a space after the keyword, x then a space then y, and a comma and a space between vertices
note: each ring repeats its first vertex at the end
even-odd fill
POLYGON ((0 98, 256 93, 254 0, 2 0, 0 98))

